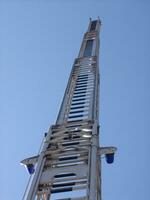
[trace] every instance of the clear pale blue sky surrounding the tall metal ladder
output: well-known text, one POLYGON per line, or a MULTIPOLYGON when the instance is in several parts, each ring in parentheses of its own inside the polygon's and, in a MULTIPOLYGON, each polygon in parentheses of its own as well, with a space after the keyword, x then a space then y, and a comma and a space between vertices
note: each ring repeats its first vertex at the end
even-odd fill
POLYGON ((149 200, 150 1, 0 0, 0 199, 21 200, 55 123, 89 17, 102 20, 100 124, 103 200, 149 200))

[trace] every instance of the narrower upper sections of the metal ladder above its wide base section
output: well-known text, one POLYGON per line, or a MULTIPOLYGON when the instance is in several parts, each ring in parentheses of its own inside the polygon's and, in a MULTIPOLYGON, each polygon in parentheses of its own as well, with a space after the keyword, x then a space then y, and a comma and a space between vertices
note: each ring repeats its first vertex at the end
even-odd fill
POLYGON ((98 120, 100 24, 99 19, 90 19, 72 67, 57 125, 98 120))

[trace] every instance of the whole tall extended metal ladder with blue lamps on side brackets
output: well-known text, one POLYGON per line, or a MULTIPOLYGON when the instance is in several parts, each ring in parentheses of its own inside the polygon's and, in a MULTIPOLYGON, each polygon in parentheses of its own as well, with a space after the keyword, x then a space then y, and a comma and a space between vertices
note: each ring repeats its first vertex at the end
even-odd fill
POLYGON ((99 146, 99 30, 92 21, 75 59, 56 120, 39 155, 21 163, 32 174, 25 200, 101 200, 101 159, 115 147, 99 146))

